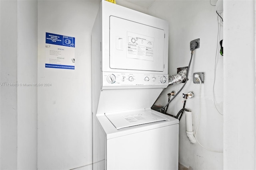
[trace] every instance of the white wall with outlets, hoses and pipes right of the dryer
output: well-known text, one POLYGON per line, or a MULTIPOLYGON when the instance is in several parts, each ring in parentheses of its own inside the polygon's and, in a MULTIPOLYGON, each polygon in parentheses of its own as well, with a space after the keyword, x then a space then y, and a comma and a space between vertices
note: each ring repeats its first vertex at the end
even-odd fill
MULTIPOLYGON (((200 48, 194 52, 188 82, 179 96, 170 104, 167 113, 176 115, 183 106, 182 93, 194 92, 194 98, 188 99, 186 108, 193 113, 194 131, 199 117, 199 84, 192 82, 194 72, 205 72, 202 84, 201 120, 198 129, 198 141, 205 147, 222 151, 223 116, 214 107, 213 82, 218 22, 215 7, 205 0, 156 1, 149 8, 151 15, 169 22, 169 74, 176 74, 178 67, 188 66, 190 61, 190 41, 200 38, 200 48)), ((222 31, 221 31, 222 32, 222 31)), ((222 34, 222 33, 221 33, 222 34)), ((222 35, 221 35, 222 37, 222 35)), ((222 111, 223 104, 223 57, 218 56, 216 71, 216 101, 222 111)), ((174 85, 160 98, 160 104, 166 104, 167 93, 176 92, 183 84, 174 85)), ((179 162, 194 170, 220 170, 223 168, 223 154, 211 152, 198 143, 191 144, 186 137, 185 115, 180 120, 179 162)))

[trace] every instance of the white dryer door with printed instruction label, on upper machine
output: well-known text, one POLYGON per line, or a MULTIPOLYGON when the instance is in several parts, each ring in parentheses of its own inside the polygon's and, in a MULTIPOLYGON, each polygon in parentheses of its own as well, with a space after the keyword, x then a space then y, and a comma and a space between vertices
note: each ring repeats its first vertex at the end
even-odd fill
POLYGON ((164 30, 110 16, 110 68, 164 71, 164 30))

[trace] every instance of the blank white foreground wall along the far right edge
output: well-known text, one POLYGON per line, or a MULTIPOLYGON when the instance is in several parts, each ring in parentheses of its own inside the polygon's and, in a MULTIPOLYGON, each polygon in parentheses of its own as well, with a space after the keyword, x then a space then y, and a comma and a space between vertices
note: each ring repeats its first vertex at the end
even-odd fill
POLYGON ((256 168, 254 3, 224 1, 224 169, 228 170, 256 168))

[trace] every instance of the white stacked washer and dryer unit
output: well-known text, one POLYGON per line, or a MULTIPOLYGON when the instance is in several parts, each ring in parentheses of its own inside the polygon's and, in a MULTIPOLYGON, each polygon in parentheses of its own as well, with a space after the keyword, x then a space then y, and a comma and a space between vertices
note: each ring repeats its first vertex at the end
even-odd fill
POLYGON ((150 109, 168 86, 168 23, 107 1, 92 29, 94 170, 177 170, 178 120, 150 109))

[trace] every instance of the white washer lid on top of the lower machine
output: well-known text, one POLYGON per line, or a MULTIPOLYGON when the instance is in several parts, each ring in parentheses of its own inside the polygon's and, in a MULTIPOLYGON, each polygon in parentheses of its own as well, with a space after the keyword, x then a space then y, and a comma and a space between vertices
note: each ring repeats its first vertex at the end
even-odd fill
POLYGON ((106 114, 106 117, 116 127, 116 129, 167 120, 160 115, 152 113, 150 110, 132 111, 118 114, 109 113, 106 114))

